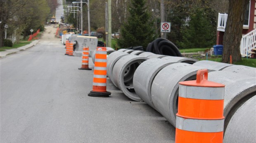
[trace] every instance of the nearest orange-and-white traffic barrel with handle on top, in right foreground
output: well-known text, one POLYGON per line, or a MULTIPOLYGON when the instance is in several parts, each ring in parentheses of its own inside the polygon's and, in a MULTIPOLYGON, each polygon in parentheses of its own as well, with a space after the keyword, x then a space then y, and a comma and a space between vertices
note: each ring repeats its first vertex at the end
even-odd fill
POLYGON ((225 85, 208 81, 207 69, 179 84, 175 143, 223 143, 225 85))

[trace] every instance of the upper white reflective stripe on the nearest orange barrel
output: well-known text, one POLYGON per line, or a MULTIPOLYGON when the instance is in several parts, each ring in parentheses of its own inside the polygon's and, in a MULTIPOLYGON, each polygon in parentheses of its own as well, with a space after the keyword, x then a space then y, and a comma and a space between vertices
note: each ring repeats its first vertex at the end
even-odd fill
POLYGON ((192 99, 222 100, 225 88, 179 85, 179 97, 192 99))

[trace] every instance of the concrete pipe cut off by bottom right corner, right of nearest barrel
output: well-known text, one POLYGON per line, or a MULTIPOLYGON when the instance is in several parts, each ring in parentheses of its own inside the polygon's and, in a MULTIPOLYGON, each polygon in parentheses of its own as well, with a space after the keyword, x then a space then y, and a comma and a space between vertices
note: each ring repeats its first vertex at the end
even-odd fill
POLYGON ((232 116, 224 134, 223 143, 255 143, 256 96, 242 104, 232 116))

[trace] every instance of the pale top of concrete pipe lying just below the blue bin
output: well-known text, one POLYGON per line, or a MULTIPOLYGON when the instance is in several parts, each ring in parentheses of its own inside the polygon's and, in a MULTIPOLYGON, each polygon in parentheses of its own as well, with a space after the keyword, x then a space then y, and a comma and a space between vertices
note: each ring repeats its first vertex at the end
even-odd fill
POLYGON ((225 67, 233 66, 230 64, 222 63, 222 62, 213 62, 209 60, 200 60, 198 62, 195 62, 193 65, 199 66, 199 67, 204 67, 206 69, 211 69, 214 71, 220 71, 224 69, 225 67))

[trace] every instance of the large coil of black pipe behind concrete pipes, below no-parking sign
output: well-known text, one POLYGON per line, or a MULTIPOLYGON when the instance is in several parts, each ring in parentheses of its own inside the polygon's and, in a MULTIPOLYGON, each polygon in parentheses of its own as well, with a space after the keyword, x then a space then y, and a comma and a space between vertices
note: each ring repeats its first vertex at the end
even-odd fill
POLYGON ((164 38, 157 38, 153 42, 149 43, 146 51, 160 55, 182 57, 178 47, 171 41, 164 38))

